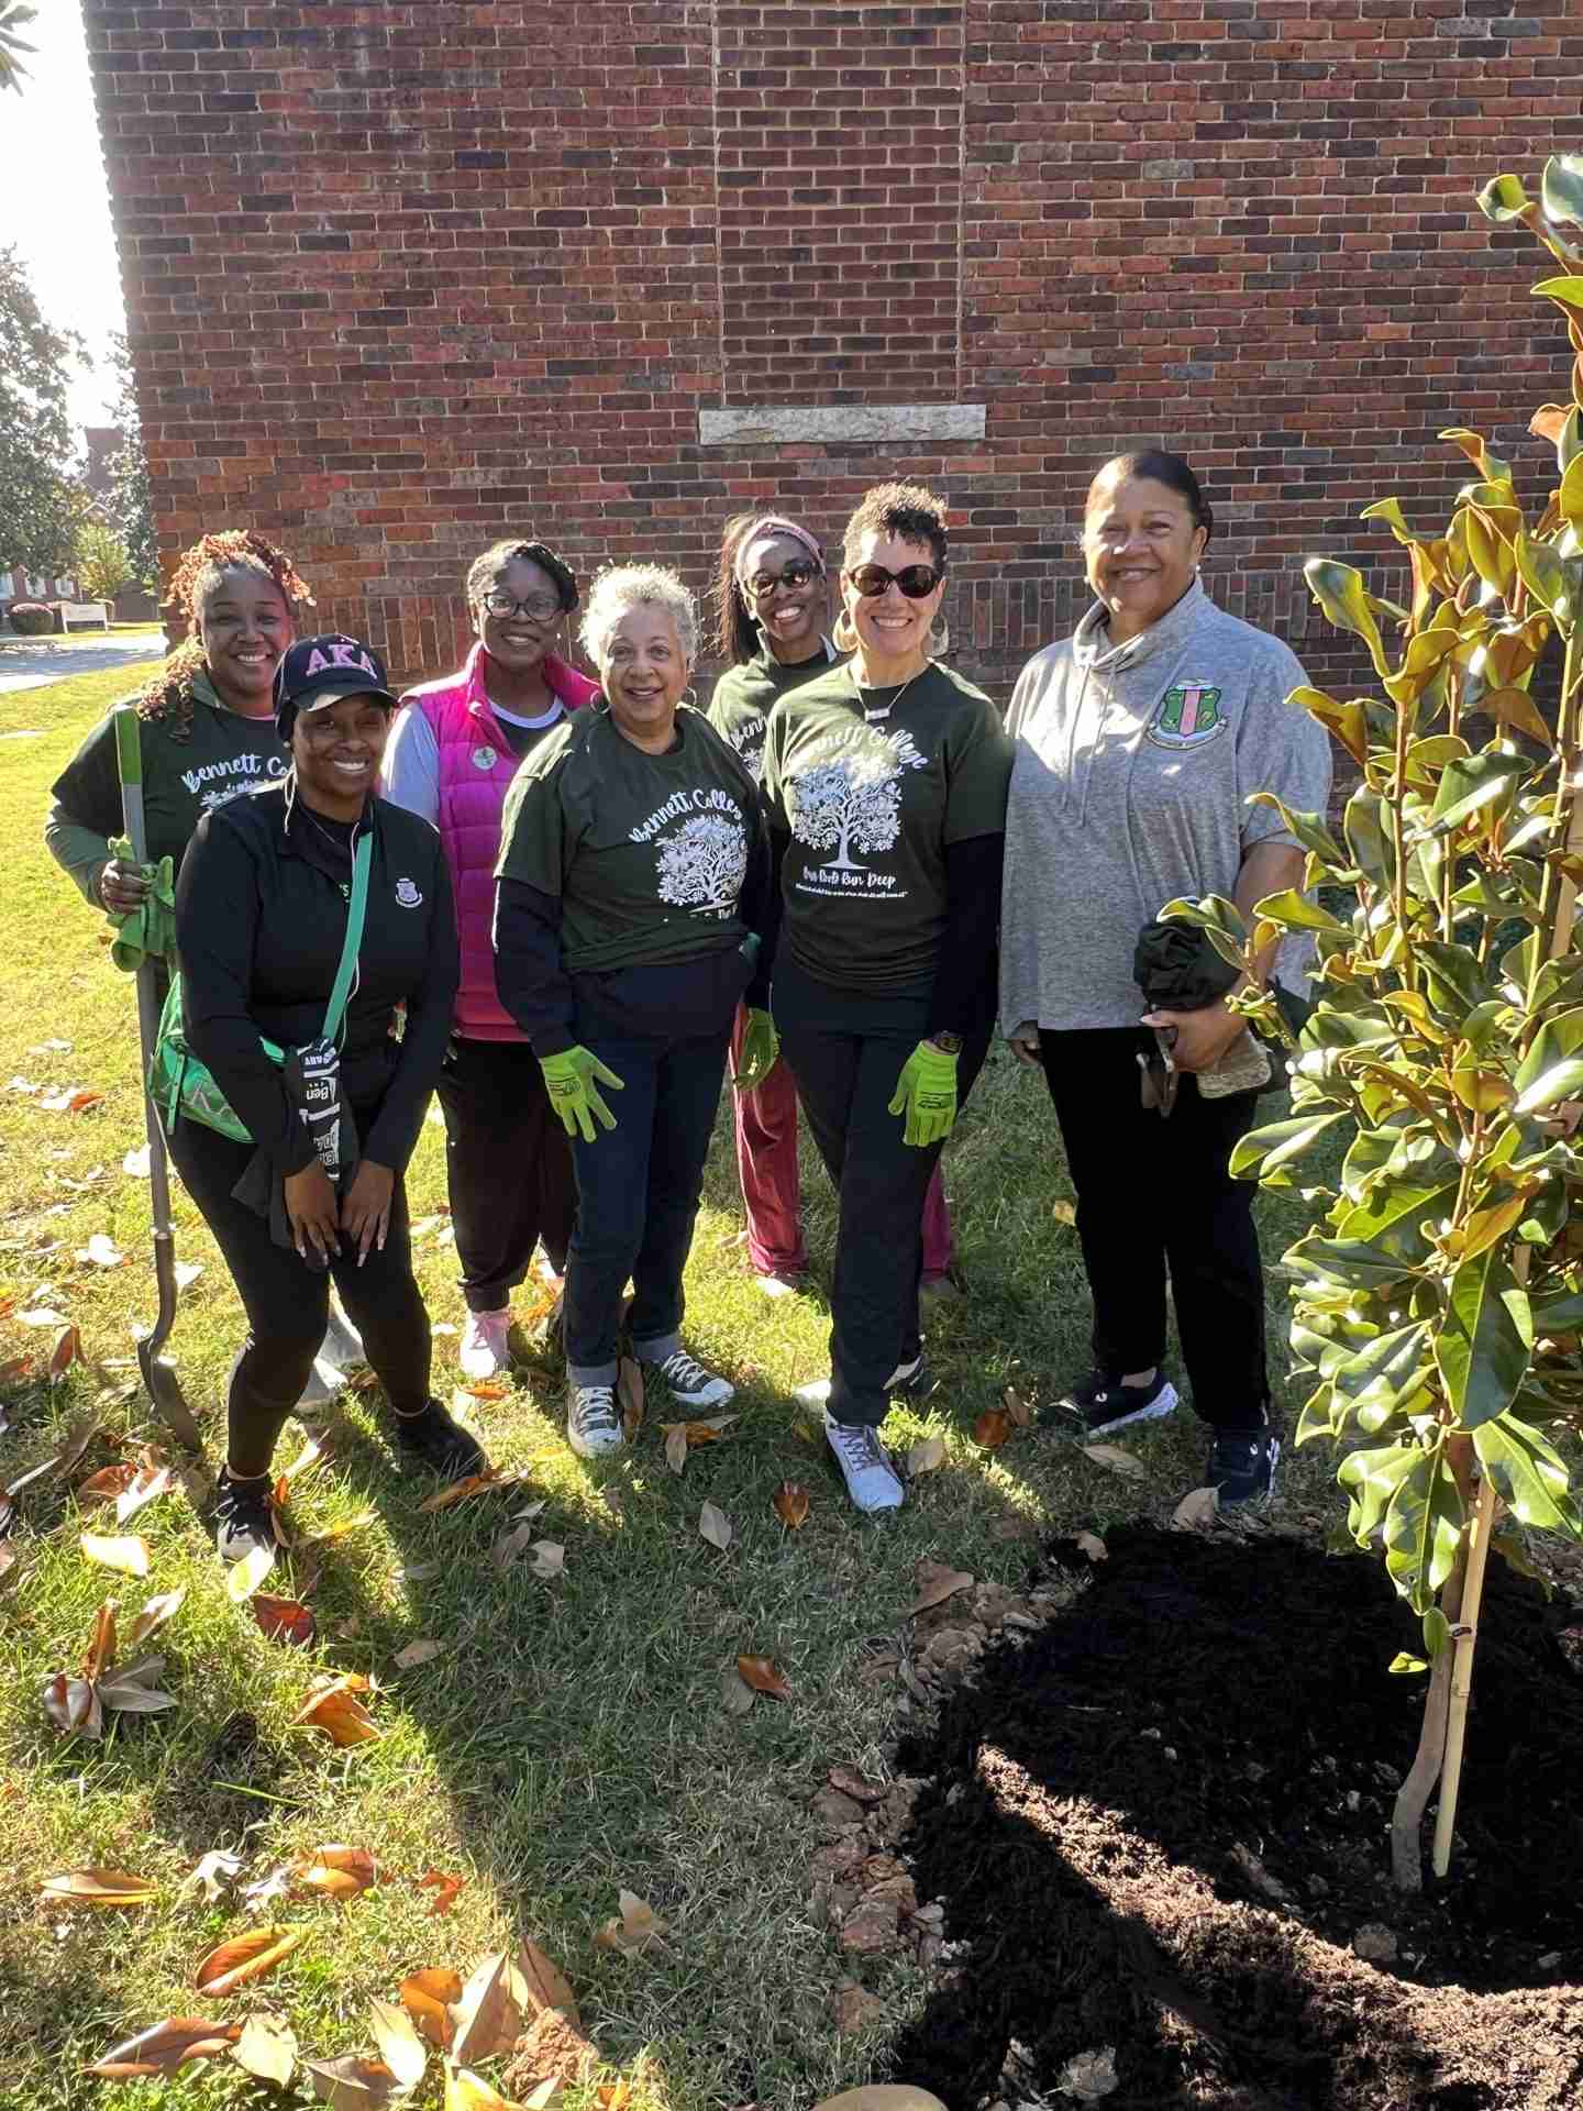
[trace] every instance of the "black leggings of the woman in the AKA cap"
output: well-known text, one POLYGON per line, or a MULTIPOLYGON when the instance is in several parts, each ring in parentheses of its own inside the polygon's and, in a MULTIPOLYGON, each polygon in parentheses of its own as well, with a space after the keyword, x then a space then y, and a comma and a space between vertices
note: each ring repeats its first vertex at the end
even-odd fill
MULTIPOLYGON (((357 1108, 367 1134, 365 1110, 357 1108)), ((428 1400, 428 1311, 412 1275, 407 1195, 397 1180, 384 1252, 369 1250, 359 1269, 342 1245, 329 1269, 310 1269, 289 1245, 274 1245, 268 1222, 239 1203, 232 1188, 253 1157, 196 1121, 171 1129, 171 1159, 226 1256, 247 1311, 247 1340, 230 1378, 228 1463, 234 1473, 266 1473, 287 1414, 308 1383, 325 1338, 333 1279, 348 1317, 363 1336, 367 1359, 393 1408, 412 1414, 428 1400)))

